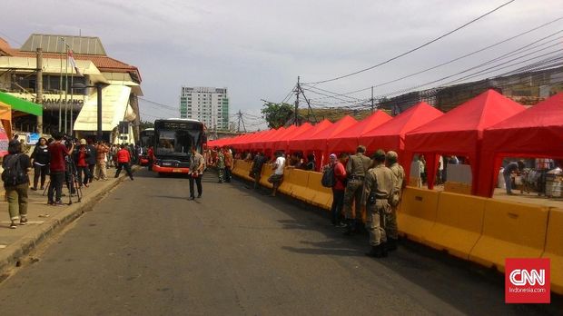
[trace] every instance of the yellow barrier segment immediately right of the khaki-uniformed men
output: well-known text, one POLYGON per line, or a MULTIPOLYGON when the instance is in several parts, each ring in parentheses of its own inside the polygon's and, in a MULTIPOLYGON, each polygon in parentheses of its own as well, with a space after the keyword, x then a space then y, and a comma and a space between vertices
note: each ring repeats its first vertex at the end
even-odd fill
POLYGON ((426 239, 436 222, 439 195, 437 191, 410 186, 403 191, 397 212, 400 235, 415 242, 426 239))

